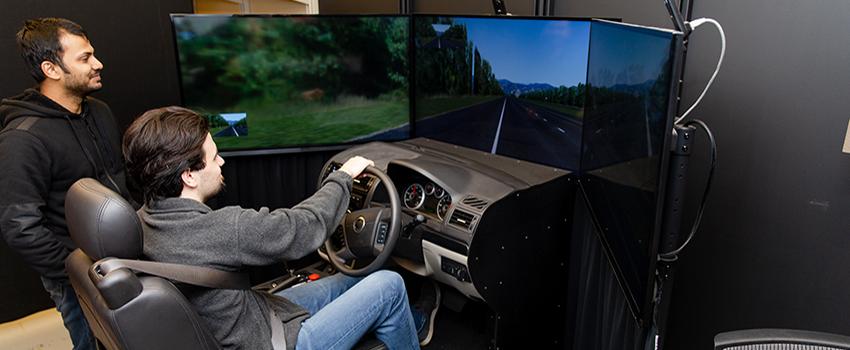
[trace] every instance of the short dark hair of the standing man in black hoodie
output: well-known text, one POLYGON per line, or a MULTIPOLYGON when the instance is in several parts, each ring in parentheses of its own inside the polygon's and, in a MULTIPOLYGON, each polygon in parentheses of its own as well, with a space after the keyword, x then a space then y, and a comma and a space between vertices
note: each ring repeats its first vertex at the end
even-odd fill
POLYGON ((68 69, 62 63, 62 43, 59 42, 59 38, 64 33, 88 39, 83 27, 64 18, 28 19, 18 31, 17 39, 21 57, 24 58, 30 75, 36 82, 41 83, 46 78, 41 71, 41 62, 44 61, 53 62, 62 68, 62 71, 68 73, 68 69))

